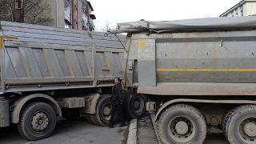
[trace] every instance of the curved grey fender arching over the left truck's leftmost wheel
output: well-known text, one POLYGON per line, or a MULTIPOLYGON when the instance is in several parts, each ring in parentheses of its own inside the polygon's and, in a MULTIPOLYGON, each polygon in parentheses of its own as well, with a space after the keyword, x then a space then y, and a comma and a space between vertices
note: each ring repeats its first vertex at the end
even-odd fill
POLYGON ((11 112, 10 122, 12 122, 12 123, 19 122, 19 115, 22 111, 22 107, 26 106, 26 103, 31 100, 47 102, 48 104, 50 104, 50 106, 53 107, 55 113, 58 116, 62 116, 62 110, 61 110, 60 106, 58 105, 58 102, 56 102, 54 100, 54 98, 51 98, 50 96, 48 96, 46 94, 30 94, 30 95, 24 96, 22 98, 19 98, 17 101, 14 102, 14 104, 12 105, 14 107, 14 110, 11 112), (38 100, 38 98, 40 98, 40 99, 38 100))

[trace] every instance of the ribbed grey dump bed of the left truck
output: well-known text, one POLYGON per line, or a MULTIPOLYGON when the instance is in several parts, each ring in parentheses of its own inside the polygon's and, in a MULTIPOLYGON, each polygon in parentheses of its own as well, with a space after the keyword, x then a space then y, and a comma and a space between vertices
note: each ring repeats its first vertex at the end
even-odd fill
POLYGON ((0 26, 2 92, 111 86, 121 76, 124 35, 15 22, 0 26))

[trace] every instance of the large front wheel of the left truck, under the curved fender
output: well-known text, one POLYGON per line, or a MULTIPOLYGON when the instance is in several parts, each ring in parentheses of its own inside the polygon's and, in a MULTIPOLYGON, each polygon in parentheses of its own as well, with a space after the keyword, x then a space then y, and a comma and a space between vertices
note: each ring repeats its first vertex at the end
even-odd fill
POLYGON ((56 114, 45 102, 33 102, 26 106, 18 123, 18 132, 23 138, 34 141, 47 138, 53 133, 56 114))

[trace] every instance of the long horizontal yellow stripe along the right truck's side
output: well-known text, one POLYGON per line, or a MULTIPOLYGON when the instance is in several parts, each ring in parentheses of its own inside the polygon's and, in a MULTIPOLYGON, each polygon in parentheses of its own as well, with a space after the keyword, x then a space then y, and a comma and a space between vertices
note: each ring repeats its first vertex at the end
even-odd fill
POLYGON ((197 72, 256 72, 256 69, 165 69, 158 68, 156 71, 173 71, 173 72, 184 72, 184 71, 197 71, 197 72))

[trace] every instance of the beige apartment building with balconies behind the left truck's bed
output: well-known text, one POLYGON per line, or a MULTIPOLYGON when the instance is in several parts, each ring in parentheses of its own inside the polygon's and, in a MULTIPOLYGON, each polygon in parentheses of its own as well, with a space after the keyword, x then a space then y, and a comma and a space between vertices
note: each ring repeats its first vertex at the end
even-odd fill
MULTIPOLYGON (((51 0, 47 0, 52 2, 51 0)), ((86 0, 55 0, 52 4, 54 26, 77 30, 94 30, 93 6, 86 0)))

